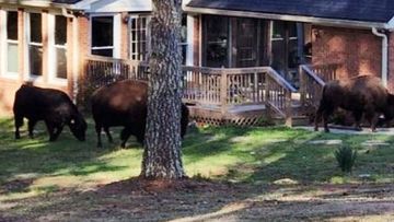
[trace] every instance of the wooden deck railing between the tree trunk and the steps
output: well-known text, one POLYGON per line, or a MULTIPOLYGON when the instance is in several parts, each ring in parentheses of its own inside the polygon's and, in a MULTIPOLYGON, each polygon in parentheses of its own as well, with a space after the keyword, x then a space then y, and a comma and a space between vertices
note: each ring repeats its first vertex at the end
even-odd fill
POLYGON ((264 104, 267 114, 278 114, 291 125, 291 94, 296 89, 270 67, 218 69, 184 67, 184 101, 200 105, 264 104))

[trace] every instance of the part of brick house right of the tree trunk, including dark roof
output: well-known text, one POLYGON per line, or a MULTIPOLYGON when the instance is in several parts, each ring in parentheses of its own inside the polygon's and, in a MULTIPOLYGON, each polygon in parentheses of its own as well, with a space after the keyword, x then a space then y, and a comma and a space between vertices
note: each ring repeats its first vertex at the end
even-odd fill
POLYGON ((338 77, 381 77, 394 90, 394 4, 379 0, 192 0, 202 66, 338 63, 338 77), (221 50, 221 52, 220 52, 221 50))

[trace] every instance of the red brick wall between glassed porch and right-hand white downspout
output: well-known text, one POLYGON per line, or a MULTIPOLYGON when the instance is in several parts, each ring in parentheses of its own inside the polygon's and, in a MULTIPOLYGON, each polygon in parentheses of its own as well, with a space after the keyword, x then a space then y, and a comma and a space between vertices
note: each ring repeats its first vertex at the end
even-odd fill
POLYGON ((312 63, 341 63, 339 78, 381 77, 382 40, 370 30, 312 27, 312 63))

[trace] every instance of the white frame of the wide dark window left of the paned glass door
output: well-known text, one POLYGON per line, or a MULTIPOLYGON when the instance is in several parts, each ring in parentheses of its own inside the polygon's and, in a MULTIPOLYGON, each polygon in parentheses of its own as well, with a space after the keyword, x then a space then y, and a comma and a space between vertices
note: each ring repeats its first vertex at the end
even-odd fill
POLYGON ((120 13, 97 13, 90 15, 90 50, 89 54, 92 55, 92 50, 94 49, 113 49, 112 58, 120 58, 120 42, 121 42, 121 14, 120 13), (113 46, 101 46, 101 47, 93 47, 93 17, 101 17, 101 16, 112 16, 113 17, 113 46))

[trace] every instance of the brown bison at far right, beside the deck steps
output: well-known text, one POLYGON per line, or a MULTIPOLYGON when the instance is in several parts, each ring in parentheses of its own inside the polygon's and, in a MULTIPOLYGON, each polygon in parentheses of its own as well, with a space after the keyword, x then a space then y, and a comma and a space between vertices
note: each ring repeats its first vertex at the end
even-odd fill
POLYGON ((362 115, 375 131, 379 115, 383 114, 385 121, 394 117, 394 95, 381 84, 375 77, 361 75, 344 81, 331 81, 323 87, 322 100, 315 116, 315 130, 323 115, 324 129, 329 132, 327 120, 336 108, 351 112, 356 120, 356 129, 360 130, 362 115))

